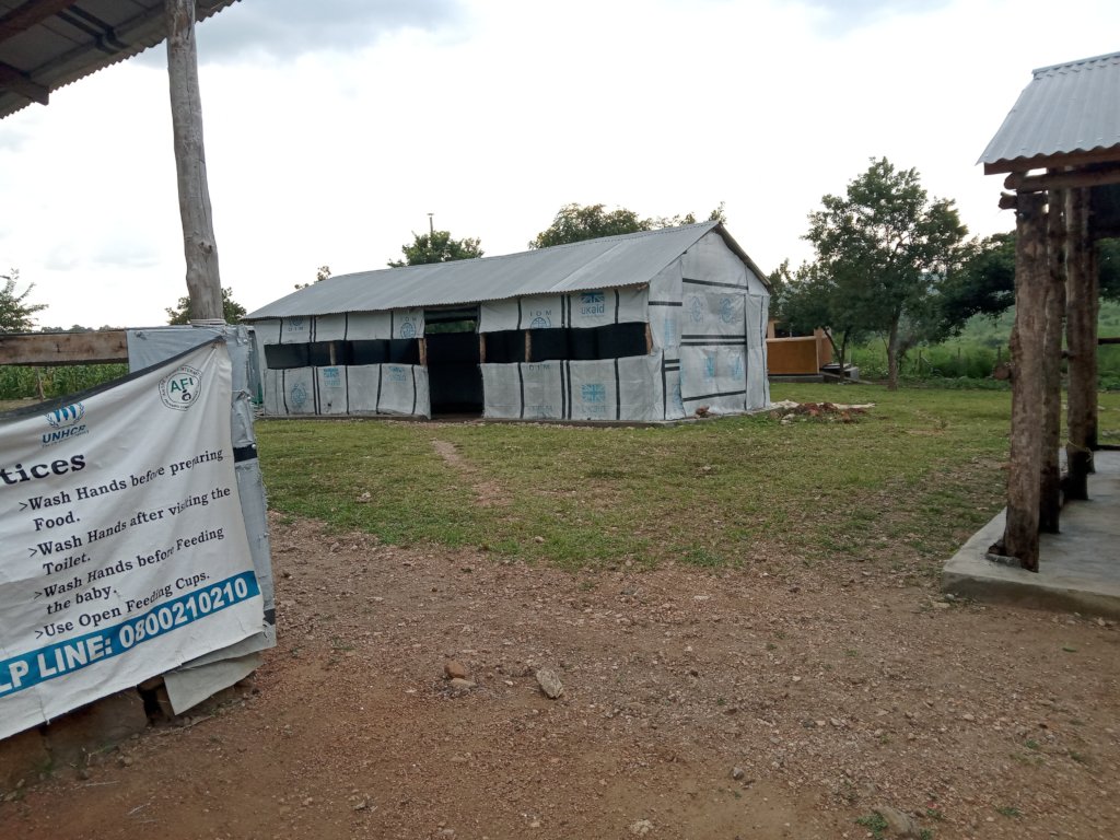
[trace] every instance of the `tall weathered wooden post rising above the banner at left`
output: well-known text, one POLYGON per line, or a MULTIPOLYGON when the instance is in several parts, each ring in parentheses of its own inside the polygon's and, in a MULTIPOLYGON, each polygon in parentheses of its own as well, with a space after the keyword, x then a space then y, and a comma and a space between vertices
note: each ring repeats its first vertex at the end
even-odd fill
POLYGON ((167 72, 171 90, 171 131, 179 183, 183 250, 187 258, 187 293, 194 320, 224 321, 222 278, 206 184, 203 108, 195 46, 195 0, 165 0, 167 72))

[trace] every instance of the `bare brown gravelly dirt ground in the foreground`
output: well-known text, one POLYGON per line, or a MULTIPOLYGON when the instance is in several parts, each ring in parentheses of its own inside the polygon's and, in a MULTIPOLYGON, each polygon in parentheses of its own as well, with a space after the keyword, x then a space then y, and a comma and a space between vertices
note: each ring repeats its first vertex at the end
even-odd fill
POLYGON ((571 575, 272 528, 252 685, 0 804, 0 838, 864 838, 883 806, 1120 836, 1112 623, 866 564, 571 575))

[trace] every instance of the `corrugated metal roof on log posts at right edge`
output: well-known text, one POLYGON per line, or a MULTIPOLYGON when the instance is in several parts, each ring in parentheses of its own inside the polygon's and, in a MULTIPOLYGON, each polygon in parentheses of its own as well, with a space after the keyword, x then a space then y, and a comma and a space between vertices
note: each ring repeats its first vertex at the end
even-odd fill
POLYGON ((1120 150, 1120 53, 1036 69, 978 162, 1006 170, 1112 148, 1120 150))

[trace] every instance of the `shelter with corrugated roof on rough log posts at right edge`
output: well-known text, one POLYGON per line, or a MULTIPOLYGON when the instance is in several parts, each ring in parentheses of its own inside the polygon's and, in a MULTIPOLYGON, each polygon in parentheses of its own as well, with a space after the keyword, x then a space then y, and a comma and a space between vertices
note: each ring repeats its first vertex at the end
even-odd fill
POLYGON ((1095 243, 1120 235, 1120 53, 1036 69, 979 162, 1008 172, 1000 206, 1016 211, 1011 466, 991 553, 1036 571, 1039 531, 1058 532, 1063 500, 1088 497, 1099 448, 1095 243))

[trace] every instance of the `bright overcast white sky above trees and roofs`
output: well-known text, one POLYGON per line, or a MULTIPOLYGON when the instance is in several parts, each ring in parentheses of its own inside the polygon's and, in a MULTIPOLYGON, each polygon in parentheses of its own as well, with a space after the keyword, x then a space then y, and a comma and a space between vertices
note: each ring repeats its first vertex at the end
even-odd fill
MULTIPOLYGON (((1120 49, 1116 0, 242 0, 198 27, 222 284, 250 310, 383 268, 412 232, 523 251, 561 205, 726 203, 765 270, 869 158, 974 234, 976 160, 1048 64, 1120 49)), ((0 122, 0 269, 44 326, 186 295, 162 47, 0 122)))

